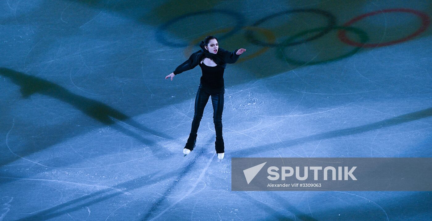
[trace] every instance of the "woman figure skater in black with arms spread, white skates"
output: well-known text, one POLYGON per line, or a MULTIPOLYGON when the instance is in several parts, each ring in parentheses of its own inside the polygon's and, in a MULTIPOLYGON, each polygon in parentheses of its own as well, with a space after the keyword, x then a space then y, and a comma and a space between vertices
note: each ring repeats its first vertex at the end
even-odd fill
POLYGON ((213 104, 213 123, 215 124, 216 141, 215 148, 217 157, 222 160, 225 153, 225 146, 222 137, 222 111, 223 111, 223 96, 225 94, 225 85, 223 82, 223 72, 226 63, 235 63, 240 57, 240 54, 246 49, 238 49, 234 52, 226 51, 219 48, 219 43, 216 37, 207 36, 204 41, 201 41, 200 51, 194 52, 188 60, 179 65, 173 73, 165 77, 172 78, 179 73, 193 69, 200 65, 203 76, 200 79, 198 86, 197 96, 195 98, 195 113, 194 120, 192 120, 191 133, 187 139, 186 145, 183 149, 183 154, 186 156, 194 150, 195 143, 197 142, 197 131, 200 126, 201 118, 203 117, 204 107, 212 97, 213 104))

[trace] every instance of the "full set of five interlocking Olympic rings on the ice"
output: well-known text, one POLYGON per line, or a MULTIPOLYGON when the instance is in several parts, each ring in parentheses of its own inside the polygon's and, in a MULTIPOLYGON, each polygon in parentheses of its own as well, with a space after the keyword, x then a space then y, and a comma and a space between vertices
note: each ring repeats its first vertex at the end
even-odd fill
POLYGON ((245 29, 245 37, 247 39, 249 39, 251 41, 251 43, 262 46, 263 49, 253 53, 253 54, 248 54, 246 56, 242 56, 240 58, 240 62, 247 60, 247 59, 251 59, 253 57, 257 57, 260 54, 265 53, 270 47, 279 47, 279 49, 276 49, 276 53, 279 55, 278 57, 280 57, 281 59, 285 60, 288 63, 292 63, 292 64, 296 64, 296 65, 305 65, 305 64, 318 64, 318 63, 323 63, 323 62, 328 62, 328 61, 332 61, 332 60, 338 60, 344 57, 348 57, 350 55, 355 54, 356 52, 358 52, 361 48, 363 47, 382 47, 382 46, 388 46, 391 44, 397 44, 403 41, 407 41, 410 40, 418 35, 420 35, 422 32, 424 32, 430 25, 430 18, 426 13, 423 13, 421 11, 418 10, 414 10, 414 9, 384 9, 384 10, 378 10, 378 11, 373 11, 370 13, 366 13, 360 16, 357 16, 351 20, 349 20, 348 22, 345 22, 343 25, 338 26, 337 22, 336 22, 336 18, 334 15, 332 15, 329 12, 326 12, 324 10, 320 10, 320 9, 294 9, 294 10, 286 10, 286 11, 282 11, 282 12, 278 12, 269 16, 266 16, 262 19, 259 19, 257 22, 254 22, 251 26, 245 26, 245 19, 241 14, 238 14, 236 12, 232 12, 232 11, 225 11, 225 10, 219 10, 219 9, 212 9, 212 10, 204 10, 204 11, 200 11, 200 12, 195 12, 195 13, 188 13, 185 15, 182 15, 178 18, 175 19, 171 19, 170 21, 166 22, 165 24, 163 24, 160 28, 159 28, 159 32, 157 32, 157 38, 163 43, 163 44, 167 44, 170 46, 174 46, 174 47, 187 47, 185 49, 185 56, 188 57, 189 54, 191 53, 192 47, 194 45, 196 45, 197 43, 199 43, 206 35, 200 36, 200 38, 195 39, 192 41, 192 44, 179 44, 179 43, 174 43, 171 41, 168 41, 164 38, 164 31, 166 29, 168 29, 168 27, 170 25, 172 25, 175 22, 178 22, 181 19, 185 19, 191 16, 197 16, 197 15, 203 15, 203 14, 209 14, 209 13, 219 13, 222 14, 223 16, 230 16, 232 18, 235 19, 235 26, 233 26, 232 28, 223 28, 220 29, 218 31, 212 31, 211 34, 209 33, 209 35, 213 35, 214 33, 225 33, 222 36, 219 36, 219 40, 223 39, 223 38, 227 38, 229 36, 234 35, 235 33, 239 32, 241 29, 245 29), (421 20, 421 26, 420 28, 406 36, 403 38, 400 38, 398 40, 394 40, 394 41, 388 41, 388 42, 382 42, 382 43, 367 43, 367 41, 369 40, 367 34, 365 31, 360 30, 359 28, 353 28, 350 25, 354 24, 355 22, 358 22, 361 19, 364 19, 368 16, 374 16, 380 13, 390 13, 390 12, 402 12, 402 13, 410 13, 413 14, 417 17, 420 18, 421 20), (319 16, 322 16, 324 18, 327 19, 327 23, 324 25, 324 27, 321 28, 313 28, 311 30, 305 30, 302 31, 300 33, 296 33, 294 35, 291 36, 286 36, 287 39, 284 40, 282 43, 276 42, 276 35, 271 32, 269 29, 267 28, 263 28, 263 27, 259 27, 259 25, 262 25, 264 22, 269 21, 270 19, 276 18, 278 16, 282 16, 284 14, 291 14, 291 13, 314 13, 317 14, 319 16), (293 45, 297 45, 297 44, 303 44, 309 41, 313 41, 317 38, 320 38, 324 35, 326 35, 327 33, 329 33, 331 30, 339 30, 337 32, 337 37, 339 38, 340 41, 342 41, 343 43, 349 45, 349 46, 353 46, 355 47, 353 50, 349 51, 346 54, 340 55, 337 58, 333 58, 333 59, 327 59, 327 60, 322 60, 322 61, 300 61, 300 60, 295 60, 289 57, 286 57, 286 54, 284 54, 283 52, 283 48, 285 47, 289 47, 289 46, 293 46, 293 45), (353 32, 356 35, 359 36, 359 41, 360 42, 356 42, 353 41, 351 39, 349 39, 346 36, 346 32, 353 32), (254 32, 260 33, 261 35, 264 35, 264 37, 266 38, 266 41, 260 41, 256 38, 256 35, 254 32), (308 38, 300 38, 302 36, 311 34, 311 33, 317 33, 311 37, 308 38), (296 41, 297 39, 301 39, 296 41), (282 48, 281 48, 282 47, 282 48))

